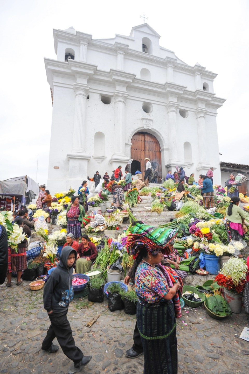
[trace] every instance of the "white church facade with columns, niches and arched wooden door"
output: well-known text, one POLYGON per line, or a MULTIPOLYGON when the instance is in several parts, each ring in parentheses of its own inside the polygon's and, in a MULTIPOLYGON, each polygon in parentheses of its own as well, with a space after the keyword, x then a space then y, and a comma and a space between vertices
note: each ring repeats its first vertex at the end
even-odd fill
POLYGON ((144 172, 145 157, 162 177, 182 166, 198 180, 213 166, 214 183, 221 182, 216 115, 225 99, 214 93, 217 74, 161 47, 146 23, 113 39, 73 27, 53 32, 57 60, 45 58, 52 193, 78 189, 96 171, 124 170, 129 159, 132 171, 144 172))

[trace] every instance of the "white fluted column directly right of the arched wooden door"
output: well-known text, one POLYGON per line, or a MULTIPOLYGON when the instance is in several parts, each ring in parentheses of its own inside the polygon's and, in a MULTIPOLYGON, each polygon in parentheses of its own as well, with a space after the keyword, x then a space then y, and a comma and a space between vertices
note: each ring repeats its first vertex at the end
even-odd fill
POLYGON ((178 105, 166 105, 168 113, 168 136, 170 143, 170 162, 177 162, 176 110, 178 105))

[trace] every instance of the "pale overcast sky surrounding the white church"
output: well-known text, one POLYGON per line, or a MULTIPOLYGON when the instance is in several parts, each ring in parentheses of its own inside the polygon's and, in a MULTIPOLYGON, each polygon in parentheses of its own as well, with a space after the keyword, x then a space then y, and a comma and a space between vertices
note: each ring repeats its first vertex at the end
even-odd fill
POLYGON ((248 1, 5 0, 0 11, 0 180, 27 174, 47 182, 52 102, 43 58, 56 59, 52 29, 73 26, 93 39, 112 38, 129 35, 143 23, 143 13, 161 35, 161 46, 191 66, 198 62, 218 73, 215 93, 227 99, 217 116, 220 160, 249 164, 248 1))

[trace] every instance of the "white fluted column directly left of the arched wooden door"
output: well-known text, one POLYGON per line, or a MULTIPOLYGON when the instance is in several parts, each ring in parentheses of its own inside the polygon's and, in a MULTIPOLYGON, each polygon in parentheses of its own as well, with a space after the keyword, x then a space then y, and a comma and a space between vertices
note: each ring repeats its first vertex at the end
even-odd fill
POLYGON ((127 95, 114 94, 114 154, 125 156, 125 100, 127 95))

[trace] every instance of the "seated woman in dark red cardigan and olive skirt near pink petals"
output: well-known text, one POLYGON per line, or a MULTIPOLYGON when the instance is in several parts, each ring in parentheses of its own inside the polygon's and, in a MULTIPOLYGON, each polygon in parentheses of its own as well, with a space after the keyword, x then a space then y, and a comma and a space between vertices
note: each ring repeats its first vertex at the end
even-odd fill
POLYGON ((88 235, 81 236, 81 243, 77 249, 76 273, 84 274, 91 270, 92 263, 97 257, 97 249, 88 235))

